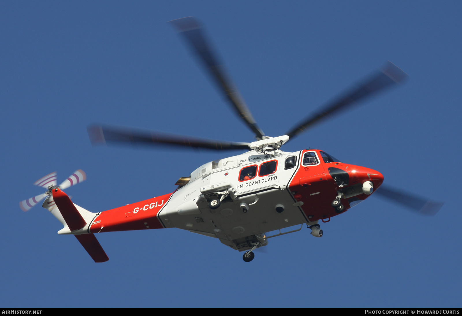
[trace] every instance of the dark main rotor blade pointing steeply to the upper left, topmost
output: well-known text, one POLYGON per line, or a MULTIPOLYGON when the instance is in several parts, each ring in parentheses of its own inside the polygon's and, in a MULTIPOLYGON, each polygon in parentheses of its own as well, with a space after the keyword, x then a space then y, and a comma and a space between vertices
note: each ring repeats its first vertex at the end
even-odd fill
POLYGON ((263 139, 265 134, 258 127, 249 108, 245 104, 236 86, 233 84, 230 77, 225 72, 222 62, 213 53, 211 45, 208 43, 201 24, 194 17, 179 18, 170 21, 175 25, 178 32, 182 33, 186 42, 191 45, 191 48, 203 62, 208 73, 212 76, 213 81, 218 85, 225 98, 231 103, 236 110, 237 115, 247 124, 247 126, 255 133, 258 140, 263 139))

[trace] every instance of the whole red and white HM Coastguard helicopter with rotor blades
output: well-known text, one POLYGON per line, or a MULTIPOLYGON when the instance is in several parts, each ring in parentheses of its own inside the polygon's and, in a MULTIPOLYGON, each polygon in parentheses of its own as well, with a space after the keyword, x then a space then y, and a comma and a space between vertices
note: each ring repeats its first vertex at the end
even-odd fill
POLYGON ((254 250, 267 245, 269 238, 299 231, 305 224, 311 235, 322 237, 319 221, 328 222, 375 192, 421 214, 433 215, 442 207, 443 203, 384 188, 379 171, 340 162, 322 150, 281 150, 287 141, 328 116, 402 82, 407 75, 401 69, 388 62, 381 71, 307 117, 286 135, 268 137, 213 54, 198 21, 188 17, 170 23, 184 36, 228 103, 255 133, 256 141, 204 140, 130 128, 89 126, 92 144, 245 151, 203 164, 190 176, 181 177, 173 193, 100 213, 73 204, 62 191, 85 180, 82 170, 74 172, 60 186, 55 172, 35 182, 47 191, 20 202, 21 209, 27 211, 45 198, 43 207, 64 225, 58 234, 77 237, 95 262, 109 260, 94 235, 101 232, 176 227, 217 238, 232 249, 245 251, 243 260, 249 262, 255 256, 254 250), (281 231, 292 226, 296 227, 281 231), (276 233, 268 235, 270 231, 276 233))

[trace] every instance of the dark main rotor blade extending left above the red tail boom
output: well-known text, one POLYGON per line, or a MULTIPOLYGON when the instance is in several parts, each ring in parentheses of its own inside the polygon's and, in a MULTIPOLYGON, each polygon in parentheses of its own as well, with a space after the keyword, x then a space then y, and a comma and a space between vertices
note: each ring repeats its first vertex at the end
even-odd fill
POLYGON ((103 127, 92 125, 87 128, 92 145, 125 144, 146 146, 181 146, 214 150, 249 149, 249 143, 205 140, 182 135, 160 134, 131 128, 103 127))

